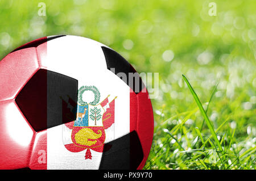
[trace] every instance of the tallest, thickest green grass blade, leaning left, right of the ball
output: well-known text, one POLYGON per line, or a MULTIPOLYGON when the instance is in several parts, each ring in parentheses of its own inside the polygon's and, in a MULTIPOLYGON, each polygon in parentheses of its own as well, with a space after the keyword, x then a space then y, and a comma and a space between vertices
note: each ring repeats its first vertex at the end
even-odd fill
MULTIPOLYGON (((183 76, 184 81, 187 83, 188 89, 191 91, 191 94, 193 95, 193 98, 195 99, 195 101, 196 101, 196 103, 197 103, 197 106, 199 107, 199 110, 200 110, 200 112, 202 113, 202 115, 203 115, 203 117, 204 117, 204 119, 205 119, 205 122, 207 123, 207 127, 209 128, 210 133, 212 134, 212 136, 213 136, 215 142, 216 142, 217 145, 218 145, 218 148, 221 150, 221 152, 222 152, 222 154, 223 154, 223 150, 222 150, 222 148, 221 148, 220 141, 218 141, 217 135, 216 135, 216 133, 215 133, 215 131, 214 131, 214 129, 213 129, 212 124, 210 123, 210 120, 209 120, 207 114, 206 114, 205 111, 204 111, 204 108, 203 108, 203 106, 202 106, 202 103, 200 102, 200 100, 199 100, 199 98, 198 98, 196 92, 193 90, 193 87, 192 87, 192 86, 190 85, 190 83, 188 82, 188 79, 185 77, 185 75, 182 75, 182 76, 183 76)), ((223 155, 224 155, 224 154, 223 154, 223 155)), ((224 158, 225 158, 225 155, 224 155, 224 158)))

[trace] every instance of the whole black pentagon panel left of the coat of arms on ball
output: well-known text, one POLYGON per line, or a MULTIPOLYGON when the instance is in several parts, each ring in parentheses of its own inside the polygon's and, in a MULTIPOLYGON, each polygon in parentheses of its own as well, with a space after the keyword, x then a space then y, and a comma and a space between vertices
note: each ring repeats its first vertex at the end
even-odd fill
POLYGON ((36 132, 76 120, 78 81, 39 69, 15 101, 36 132))

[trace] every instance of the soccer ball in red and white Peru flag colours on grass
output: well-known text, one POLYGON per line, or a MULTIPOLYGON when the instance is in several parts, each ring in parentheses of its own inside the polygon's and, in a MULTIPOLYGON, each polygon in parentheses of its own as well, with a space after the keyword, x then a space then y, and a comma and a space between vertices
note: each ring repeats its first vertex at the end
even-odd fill
POLYGON ((142 169, 154 117, 134 68, 78 36, 24 44, 0 61, 0 169, 142 169))

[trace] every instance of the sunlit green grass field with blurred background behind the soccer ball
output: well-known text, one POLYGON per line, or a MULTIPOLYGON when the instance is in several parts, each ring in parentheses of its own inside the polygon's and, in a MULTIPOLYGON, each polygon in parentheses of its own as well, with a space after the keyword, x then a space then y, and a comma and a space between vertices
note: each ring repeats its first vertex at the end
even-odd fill
POLYGON ((255 169, 255 7, 253 0, 0 0, 0 59, 43 36, 100 41, 139 73, 159 73, 154 140, 144 169, 255 169), (38 15, 39 2, 46 3, 46 16, 38 15), (216 16, 208 13, 210 2, 216 16), (203 117, 181 74, 204 106, 219 83, 208 116, 225 157, 213 140, 203 144, 210 132, 203 125, 200 138, 203 117))

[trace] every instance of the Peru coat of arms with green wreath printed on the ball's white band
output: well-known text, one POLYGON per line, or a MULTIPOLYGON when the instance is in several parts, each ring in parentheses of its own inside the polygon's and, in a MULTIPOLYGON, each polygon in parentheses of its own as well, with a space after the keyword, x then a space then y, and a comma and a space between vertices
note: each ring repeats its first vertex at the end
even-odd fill
POLYGON ((114 106, 117 97, 111 102, 108 100, 109 96, 102 102, 100 102, 100 98, 100 91, 97 87, 82 86, 78 91, 77 104, 71 98, 68 99, 68 102, 63 100, 63 110, 65 112, 63 116, 76 115, 75 121, 65 124, 65 127, 72 129, 72 143, 64 143, 64 146, 72 152, 87 149, 85 159, 92 159, 90 149, 98 152, 103 151, 106 140, 105 130, 114 124, 114 106), (87 103, 82 99, 85 91, 93 92, 94 100, 92 102, 87 103))

